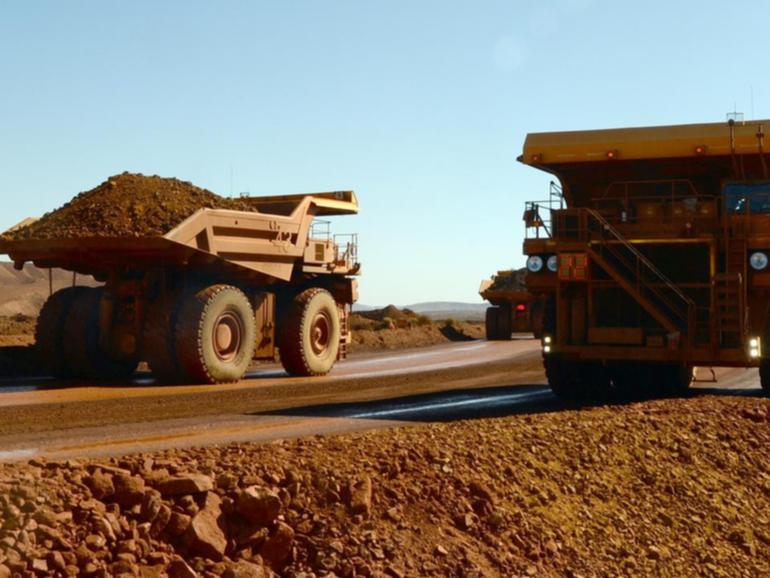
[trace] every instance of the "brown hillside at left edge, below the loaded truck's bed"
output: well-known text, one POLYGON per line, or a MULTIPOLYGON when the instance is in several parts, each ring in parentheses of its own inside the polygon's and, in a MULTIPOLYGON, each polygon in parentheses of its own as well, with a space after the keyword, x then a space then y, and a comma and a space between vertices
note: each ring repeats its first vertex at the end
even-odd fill
MULTIPOLYGON (((53 290, 72 285, 72 273, 53 269, 53 290)), ((92 277, 78 275, 78 285, 95 285, 92 277)), ((48 298, 48 269, 25 265, 17 271, 13 263, 0 261, 0 315, 35 316, 48 298)))

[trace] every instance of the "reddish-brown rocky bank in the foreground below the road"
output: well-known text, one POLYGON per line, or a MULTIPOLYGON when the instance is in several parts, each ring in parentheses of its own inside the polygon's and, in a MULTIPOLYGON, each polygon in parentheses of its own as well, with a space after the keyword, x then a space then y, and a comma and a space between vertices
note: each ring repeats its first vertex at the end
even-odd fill
POLYGON ((770 575, 770 401, 0 466, 0 577, 770 575))

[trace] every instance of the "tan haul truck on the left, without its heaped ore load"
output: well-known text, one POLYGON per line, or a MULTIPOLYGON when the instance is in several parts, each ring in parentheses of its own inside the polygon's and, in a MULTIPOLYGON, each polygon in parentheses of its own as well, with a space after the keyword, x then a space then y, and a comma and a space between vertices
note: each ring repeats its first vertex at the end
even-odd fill
POLYGON ((114 379, 146 361, 160 381, 220 383, 277 349, 290 375, 327 373, 346 353, 360 266, 356 236, 332 236, 315 218, 357 213, 357 199, 241 200, 253 211, 200 209, 157 237, 0 240, 17 268, 103 282, 44 304, 36 338, 47 369, 114 379))

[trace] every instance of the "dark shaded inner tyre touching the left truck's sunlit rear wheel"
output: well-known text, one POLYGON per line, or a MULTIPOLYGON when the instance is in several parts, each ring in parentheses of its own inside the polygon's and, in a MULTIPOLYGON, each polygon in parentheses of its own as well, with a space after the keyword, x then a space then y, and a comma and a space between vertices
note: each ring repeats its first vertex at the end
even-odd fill
POLYGON ((177 383, 184 378, 174 350, 175 313, 172 304, 156 299, 150 304, 144 321, 145 361, 155 379, 163 383, 177 383))

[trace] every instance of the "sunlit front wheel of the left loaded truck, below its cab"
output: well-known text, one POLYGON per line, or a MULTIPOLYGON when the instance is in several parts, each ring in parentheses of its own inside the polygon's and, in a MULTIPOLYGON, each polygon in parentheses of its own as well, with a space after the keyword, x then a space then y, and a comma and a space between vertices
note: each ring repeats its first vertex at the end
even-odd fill
POLYGON ((282 313, 278 324, 278 351, 289 375, 325 375, 340 348, 340 318, 331 293, 306 289, 282 313))

